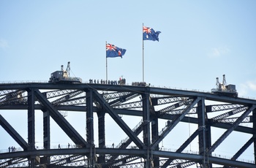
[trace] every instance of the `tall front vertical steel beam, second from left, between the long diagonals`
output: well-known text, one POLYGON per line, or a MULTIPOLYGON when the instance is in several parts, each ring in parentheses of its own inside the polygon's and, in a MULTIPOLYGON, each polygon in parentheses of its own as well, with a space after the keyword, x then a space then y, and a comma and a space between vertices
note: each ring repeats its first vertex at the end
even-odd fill
POLYGON ((92 91, 86 91, 86 140, 91 148, 89 155, 89 167, 94 167, 94 113, 92 91))

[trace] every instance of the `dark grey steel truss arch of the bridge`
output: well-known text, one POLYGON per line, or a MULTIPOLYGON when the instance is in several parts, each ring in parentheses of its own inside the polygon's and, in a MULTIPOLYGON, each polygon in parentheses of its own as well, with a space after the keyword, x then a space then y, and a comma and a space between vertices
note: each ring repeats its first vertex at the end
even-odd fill
MULTIPOLYGON (((189 167, 193 164, 197 167, 256 167, 255 161, 238 160, 249 146, 254 148, 255 159, 255 108, 254 99, 151 86, 2 83, 0 124, 22 150, 0 153, 0 167, 189 167), (4 110, 26 110, 27 140, 1 115, 4 110), (86 126, 86 135, 79 134, 60 110, 84 112, 86 121, 82 126, 86 126), (43 148, 39 149, 35 146, 35 112, 43 113, 43 148), (127 139, 120 140, 117 146, 106 145, 106 115, 127 134, 127 139), (122 118, 126 115, 141 118, 141 122, 130 128, 122 118), (75 146, 50 147, 50 118, 75 146), (160 124, 163 121, 166 121, 164 126, 160 124), (168 137, 180 123, 194 124, 197 129, 175 151, 162 150, 162 140, 180 136, 168 137), (219 137, 212 137, 214 128, 225 131, 219 137), (250 138, 230 159, 214 155, 214 150, 232 132, 249 134, 250 138), (96 134, 98 140, 94 140, 96 134), (185 149, 193 140, 198 143, 197 153, 187 153, 185 149)), ((233 141, 235 145, 237 142, 233 141)))

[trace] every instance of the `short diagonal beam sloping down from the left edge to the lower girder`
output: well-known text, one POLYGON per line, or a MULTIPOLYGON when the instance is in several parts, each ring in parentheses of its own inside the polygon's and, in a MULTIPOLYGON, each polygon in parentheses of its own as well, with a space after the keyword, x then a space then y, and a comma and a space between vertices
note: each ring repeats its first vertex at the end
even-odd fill
POLYGON ((28 150, 29 144, 23 139, 23 137, 18 134, 15 129, 12 128, 10 123, 8 123, 2 115, 0 115, 0 125, 7 131, 8 134, 20 145, 23 150, 28 150))

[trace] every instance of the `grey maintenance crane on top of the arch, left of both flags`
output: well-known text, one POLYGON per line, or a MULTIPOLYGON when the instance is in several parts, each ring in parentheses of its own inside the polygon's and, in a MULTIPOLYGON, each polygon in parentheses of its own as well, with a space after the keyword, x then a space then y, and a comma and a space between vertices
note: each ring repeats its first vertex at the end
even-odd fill
POLYGON ((61 70, 50 74, 49 83, 82 83, 80 77, 70 77, 70 62, 67 63, 67 69, 63 69, 61 65, 61 70))

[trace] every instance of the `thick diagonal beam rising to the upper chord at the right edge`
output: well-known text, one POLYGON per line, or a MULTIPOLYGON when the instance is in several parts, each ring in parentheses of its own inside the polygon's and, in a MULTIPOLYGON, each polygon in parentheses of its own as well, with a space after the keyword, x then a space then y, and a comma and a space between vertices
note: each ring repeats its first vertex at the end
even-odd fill
POLYGON ((230 129, 227 129, 227 131, 224 132, 224 134, 222 134, 221 137, 219 137, 219 139, 214 142, 214 145, 211 146, 211 148, 208 150, 208 153, 212 153, 225 139, 226 137, 231 134, 231 132, 236 129, 236 127, 238 127, 239 123, 241 123, 244 118, 246 118, 247 115, 249 115, 250 112, 252 112, 252 110, 255 109, 255 105, 252 105, 252 107, 249 107, 248 110, 246 110, 237 120, 235 123, 233 123, 233 125, 230 127, 230 129))

